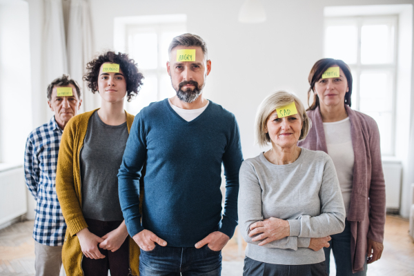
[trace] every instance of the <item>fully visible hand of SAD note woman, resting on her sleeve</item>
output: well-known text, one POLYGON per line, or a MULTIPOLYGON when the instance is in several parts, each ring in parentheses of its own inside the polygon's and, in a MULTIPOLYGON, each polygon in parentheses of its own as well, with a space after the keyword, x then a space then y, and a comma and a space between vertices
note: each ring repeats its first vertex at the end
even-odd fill
POLYGON ((262 246, 269 242, 276 241, 277 239, 288 237, 289 234, 290 226, 287 220, 270 217, 263 221, 257 221, 254 224, 251 224, 248 236, 253 237, 257 235, 252 239, 253 242, 263 239, 263 241, 259 243, 259 246, 262 246))

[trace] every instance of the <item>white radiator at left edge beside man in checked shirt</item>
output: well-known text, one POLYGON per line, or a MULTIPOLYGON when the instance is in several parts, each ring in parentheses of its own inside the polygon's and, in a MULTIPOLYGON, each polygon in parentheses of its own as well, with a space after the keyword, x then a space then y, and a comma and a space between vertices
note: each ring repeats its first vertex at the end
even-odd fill
POLYGON ((0 225, 26 214, 27 194, 23 166, 0 172, 0 225))

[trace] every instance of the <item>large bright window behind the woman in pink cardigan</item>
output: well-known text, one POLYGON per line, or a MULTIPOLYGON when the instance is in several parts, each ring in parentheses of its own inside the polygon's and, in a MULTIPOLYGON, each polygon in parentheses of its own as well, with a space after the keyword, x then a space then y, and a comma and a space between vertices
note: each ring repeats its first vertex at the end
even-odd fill
POLYGON ((352 107, 377 121, 382 155, 395 153, 396 36, 396 16, 325 19, 324 56, 351 68, 352 107))

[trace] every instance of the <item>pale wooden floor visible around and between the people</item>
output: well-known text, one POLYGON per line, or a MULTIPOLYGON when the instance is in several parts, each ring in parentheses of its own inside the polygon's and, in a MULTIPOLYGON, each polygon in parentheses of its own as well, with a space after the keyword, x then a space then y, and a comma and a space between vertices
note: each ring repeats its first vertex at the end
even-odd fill
MULTIPOLYGON (((33 221, 13 224, 0 230, 0 275, 34 275, 33 221)), ((237 232, 223 249, 223 276, 243 273, 246 243, 237 232), (239 243, 238 243, 239 241, 239 243), (239 246, 240 244, 240 246, 239 246)), ((333 264, 333 262, 331 262, 333 264)), ((331 267, 331 271, 335 266, 331 267)), ((335 275, 332 273, 331 275, 335 275)), ((386 217, 384 253, 382 258, 368 265, 368 276, 414 275, 414 242, 408 236, 408 221, 400 217, 386 217)))

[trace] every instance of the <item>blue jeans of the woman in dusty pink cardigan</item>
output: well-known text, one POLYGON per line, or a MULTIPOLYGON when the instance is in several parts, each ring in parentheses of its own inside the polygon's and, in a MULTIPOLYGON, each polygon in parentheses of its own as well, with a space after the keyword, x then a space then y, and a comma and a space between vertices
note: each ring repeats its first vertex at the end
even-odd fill
POLYGON ((344 232, 331 235, 331 241, 329 248, 324 247, 326 272, 329 275, 329 261, 331 257, 331 249, 333 251, 333 257, 335 258, 335 266, 337 270, 337 276, 366 276, 366 260, 364 264, 364 270, 352 273, 351 262, 351 223, 345 220, 344 232))

